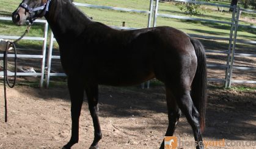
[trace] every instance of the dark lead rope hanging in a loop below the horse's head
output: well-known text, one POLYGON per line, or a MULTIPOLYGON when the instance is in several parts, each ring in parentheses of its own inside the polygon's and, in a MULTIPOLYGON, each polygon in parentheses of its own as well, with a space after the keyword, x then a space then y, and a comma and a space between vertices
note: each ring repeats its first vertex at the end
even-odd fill
POLYGON ((29 29, 31 28, 32 24, 29 23, 29 25, 27 26, 26 31, 24 32, 23 35, 21 35, 20 38, 18 38, 17 40, 15 40, 14 42, 7 42, 7 46, 5 48, 4 51, 4 109, 5 109, 5 123, 7 122, 7 97, 6 97, 6 84, 10 87, 13 88, 16 84, 16 74, 17 74, 17 52, 16 52, 16 46, 15 44, 21 40, 21 38, 23 38, 28 32, 29 29), (10 46, 13 47, 14 50, 14 79, 13 79, 13 83, 10 84, 9 79, 8 79, 8 70, 7 70, 7 66, 8 66, 8 50, 10 48, 10 46))

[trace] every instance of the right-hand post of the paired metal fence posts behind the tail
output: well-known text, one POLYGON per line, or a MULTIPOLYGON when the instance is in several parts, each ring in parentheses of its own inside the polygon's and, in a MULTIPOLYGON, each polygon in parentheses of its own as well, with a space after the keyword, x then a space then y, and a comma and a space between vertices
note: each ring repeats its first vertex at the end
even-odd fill
POLYGON ((234 32, 232 54, 231 54, 231 61, 230 61, 229 87, 231 87, 231 83, 232 83, 231 80, 232 80, 232 73, 233 73, 233 64, 235 59, 236 35, 238 31, 239 18, 240 18, 240 7, 236 7, 235 32, 234 32))

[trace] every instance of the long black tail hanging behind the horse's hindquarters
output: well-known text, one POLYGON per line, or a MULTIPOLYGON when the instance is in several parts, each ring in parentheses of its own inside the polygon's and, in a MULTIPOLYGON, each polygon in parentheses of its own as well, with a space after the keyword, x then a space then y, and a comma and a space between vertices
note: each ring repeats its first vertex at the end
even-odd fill
POLYGON ((191 98, 200 114, 200 129, 205 129, 205 111, 207 106, 207 58, 205 49, 199 40, 190 38, 197 56, 197 71, 192 82, 191 98))

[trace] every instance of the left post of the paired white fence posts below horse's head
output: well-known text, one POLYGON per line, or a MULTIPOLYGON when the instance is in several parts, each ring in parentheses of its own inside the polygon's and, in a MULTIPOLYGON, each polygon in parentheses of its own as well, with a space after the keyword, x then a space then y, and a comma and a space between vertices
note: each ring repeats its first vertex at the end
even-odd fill
POLYGON ((43 79, 44 79, 44 76, 45 76, 45 57, 46 57, 46 46, 47 46, 47 37, 48 37, 48 22, 45 23, 45 32, 43 34, 43 51, 42 51, 42 54, 43 54, 43 58, 42 58, 42 65, 41 65, 41 81, 40 81, 40 87, 43 87, 43 79))

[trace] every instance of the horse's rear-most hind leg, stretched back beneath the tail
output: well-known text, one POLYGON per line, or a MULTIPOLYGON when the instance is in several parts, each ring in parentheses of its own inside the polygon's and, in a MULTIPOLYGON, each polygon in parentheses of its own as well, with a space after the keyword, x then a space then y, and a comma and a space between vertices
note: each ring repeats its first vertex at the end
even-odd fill
POLYGON ((182 89, 176 90, 174 92, 178 106, 180 107, 183 114, 185 114, 188 123, 191 125, 194 133, 194 139, 196 140, 197 149, 203 149, 203 142, 202 142, 202 136, 200 131, 200 117, 199 112, 197 111, 196 107, 194 106, 194 103, 190 96, 189 89, 182 89))

